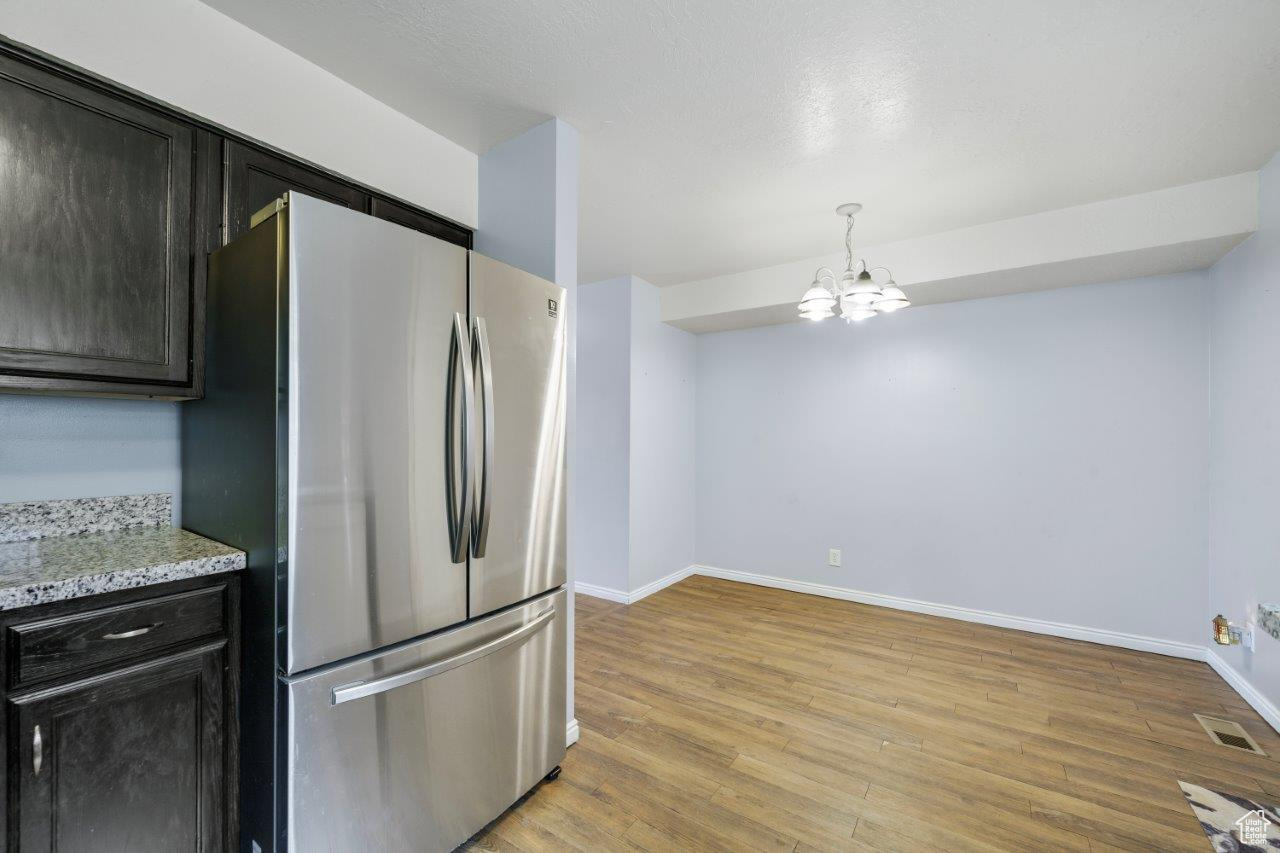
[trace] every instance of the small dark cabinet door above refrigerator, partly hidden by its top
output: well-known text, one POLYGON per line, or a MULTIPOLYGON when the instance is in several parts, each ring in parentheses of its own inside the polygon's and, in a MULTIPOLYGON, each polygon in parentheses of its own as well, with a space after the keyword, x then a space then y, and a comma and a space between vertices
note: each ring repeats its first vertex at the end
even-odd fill
POLYGON ((349 183, 232 140, 227 141, 225 160, 224 242, 248 231, 250 218, 289 190, 352 210, 369 204, 369 196, 349 183))

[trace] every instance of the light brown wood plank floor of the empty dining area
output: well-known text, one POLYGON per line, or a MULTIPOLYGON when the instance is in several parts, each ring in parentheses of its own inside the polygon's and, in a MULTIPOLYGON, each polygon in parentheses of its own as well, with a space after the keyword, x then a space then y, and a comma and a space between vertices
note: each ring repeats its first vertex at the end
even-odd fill
POLYGON ((576 603, 581 742, 474 849, 1206 850, 1176 780, 1280 799, 1204 663, 698 576, 576 603))

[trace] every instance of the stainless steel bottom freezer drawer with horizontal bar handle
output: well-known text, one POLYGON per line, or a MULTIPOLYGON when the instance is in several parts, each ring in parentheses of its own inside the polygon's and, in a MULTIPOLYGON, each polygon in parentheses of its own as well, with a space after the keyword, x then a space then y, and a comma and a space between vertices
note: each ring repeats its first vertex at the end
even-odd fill
POLYGON ((566 593, 285 683, 291 850, 451 850, 564 757, 566 593))

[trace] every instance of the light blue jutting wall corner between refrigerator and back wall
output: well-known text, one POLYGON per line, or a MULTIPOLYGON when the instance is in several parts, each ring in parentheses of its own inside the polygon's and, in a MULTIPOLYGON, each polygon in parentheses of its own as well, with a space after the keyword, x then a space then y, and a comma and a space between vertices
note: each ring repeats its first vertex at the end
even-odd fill
POLYGON ((694 562, 696 338, 622 275, 579 289, 579 580, 627 594, 694 562))

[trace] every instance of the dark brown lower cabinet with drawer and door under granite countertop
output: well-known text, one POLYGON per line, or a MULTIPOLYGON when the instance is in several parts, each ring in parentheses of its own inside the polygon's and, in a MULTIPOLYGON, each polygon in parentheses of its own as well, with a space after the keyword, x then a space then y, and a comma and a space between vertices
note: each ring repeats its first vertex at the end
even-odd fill
POLYGON ((237 580, 179 583, 188 585, 31 607, 5 625, 10 679, 22 678, 23 633, 69 638, 72 669, 101 661, 95 644, 118 652, 74 676, 19 681, 5 697, 10 850, 236 848, 237 580), (210 593, 223 596, 223 619, 210 622, 202 601, 204 621, 174 631, 173 620, 210 593), (134 617, 147 621, 127 628, 134 617), (131 651, 148 633, 131 631, 165 622, 174 643, 131 651), (100 624, 124 630, 99 633, 100 624))

